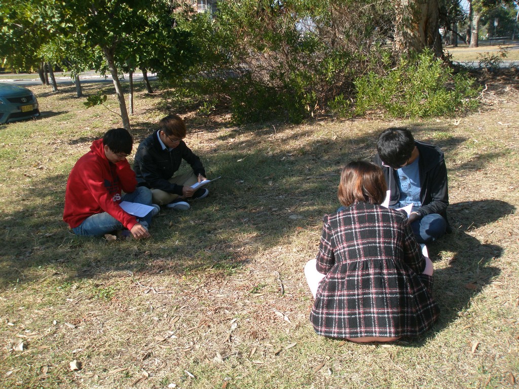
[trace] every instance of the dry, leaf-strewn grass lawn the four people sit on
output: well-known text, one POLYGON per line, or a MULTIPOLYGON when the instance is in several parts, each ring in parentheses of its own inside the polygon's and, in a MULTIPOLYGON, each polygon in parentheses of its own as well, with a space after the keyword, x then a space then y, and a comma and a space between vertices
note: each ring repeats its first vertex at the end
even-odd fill
MULTIPOLYGON (((222 178, 189 211, 162 210, 152 239, 112 243, 76 237, 61 216, 72 166, 118 117, 85 109, 73 87, 32 87, 42 116, 0 126, 0 386, 516 387, 519 92, 487 86, 479 112, 455 118, 248 127, 138 90, 134 149, 177 112, 222 178), (318 337, 303 267, 339 205, 340 169, 395 125, 447 159, 454 231, 429 246, 441 317, 394 344, 318 337)), ((117 110, 113 87, 85 93, 97 88, 117 110)))

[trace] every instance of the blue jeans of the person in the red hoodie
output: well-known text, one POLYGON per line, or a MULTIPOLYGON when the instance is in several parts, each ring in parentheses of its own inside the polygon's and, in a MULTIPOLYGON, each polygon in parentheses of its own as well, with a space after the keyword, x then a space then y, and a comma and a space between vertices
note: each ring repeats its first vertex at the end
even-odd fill
MULTIPOLYGON (((129 201, 131 203, 139 203, 145 205, 152 205, 152 192, 144 186, 140 186, 131 193, 125 193, 122 196, 122 201, 129 201)), ((141 217, 140 221, 145 221, 148 226, 152 223, 152 213, 141 217)), ((115 230, 122 230, 125 227, 106 212, 97 213, 87 217, 79 226, 72 229, 76 235, 83 235, 85 237, 99 237, 105 233, 115 230)))

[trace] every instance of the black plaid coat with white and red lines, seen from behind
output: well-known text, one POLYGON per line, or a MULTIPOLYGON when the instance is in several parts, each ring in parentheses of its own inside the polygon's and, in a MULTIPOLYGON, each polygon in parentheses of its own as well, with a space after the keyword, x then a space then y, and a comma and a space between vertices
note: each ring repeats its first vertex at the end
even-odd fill
POLYGON ((407 218, 355 203, 324 217, 317 271, 326 274, 310 321, 331 338, 416 336, 439 314, 432 277, 407 218))

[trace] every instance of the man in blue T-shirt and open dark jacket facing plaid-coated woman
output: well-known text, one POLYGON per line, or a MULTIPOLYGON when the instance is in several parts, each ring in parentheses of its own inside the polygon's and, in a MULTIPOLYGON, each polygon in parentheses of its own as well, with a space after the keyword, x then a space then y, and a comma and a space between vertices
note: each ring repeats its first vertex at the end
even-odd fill
POLYGON ((447 168, 439 147, 414 140, 406 128, 388 128, 377 141, 374 162, 382 168, 389 206, 412 204, 409 223, 419 243, 429 243, 450 231, 447 168))

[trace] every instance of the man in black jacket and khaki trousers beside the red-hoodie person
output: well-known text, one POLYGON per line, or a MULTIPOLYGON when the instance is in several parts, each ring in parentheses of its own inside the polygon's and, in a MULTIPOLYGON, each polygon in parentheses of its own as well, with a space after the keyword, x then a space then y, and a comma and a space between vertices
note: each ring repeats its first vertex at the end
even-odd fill
POLYGON ((206 188, 197 190, 193 184, 206 179, 200 158, 184 143, 186 126, 177 115, 168 115, 158 123, 158 129, 141 142, 135 154, 133 170, 139 186, 152 190, 153 202, 177 211, 188 210, 188 199, 203 199, 206 188), (185 160, 192 171, 173 176, 185 160))

